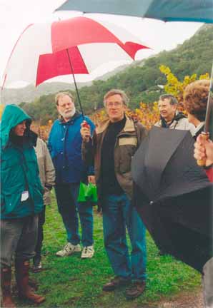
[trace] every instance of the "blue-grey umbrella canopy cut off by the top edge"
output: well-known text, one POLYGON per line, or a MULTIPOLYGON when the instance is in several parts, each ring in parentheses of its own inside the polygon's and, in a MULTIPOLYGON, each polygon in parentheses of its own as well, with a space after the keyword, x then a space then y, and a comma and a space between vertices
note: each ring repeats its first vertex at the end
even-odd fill
POLYGON ((119 14, 163 21, 213 22, 212 0, 66 0, 56 11, 119 14))

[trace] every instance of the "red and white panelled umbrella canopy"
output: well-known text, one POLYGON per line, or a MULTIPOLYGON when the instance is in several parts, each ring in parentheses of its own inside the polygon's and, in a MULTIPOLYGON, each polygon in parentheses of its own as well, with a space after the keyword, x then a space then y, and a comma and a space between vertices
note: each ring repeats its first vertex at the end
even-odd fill
POLYGON ((19 37, 4 72, 4 87, 14 81, 38 86, 55 76, 88 74, 110 61, 131 62, 148 48, 126 29, 107 21, 74 17, 31 24, 19 37))

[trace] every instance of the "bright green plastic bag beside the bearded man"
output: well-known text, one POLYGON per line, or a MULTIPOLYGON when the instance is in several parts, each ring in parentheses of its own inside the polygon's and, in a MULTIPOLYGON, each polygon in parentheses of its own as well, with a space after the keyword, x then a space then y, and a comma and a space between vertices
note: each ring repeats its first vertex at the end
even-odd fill
POLYGON ((78 202, 91 201, 96 203, 98 201, 96 185, 88 183, 80 183, 78 202))

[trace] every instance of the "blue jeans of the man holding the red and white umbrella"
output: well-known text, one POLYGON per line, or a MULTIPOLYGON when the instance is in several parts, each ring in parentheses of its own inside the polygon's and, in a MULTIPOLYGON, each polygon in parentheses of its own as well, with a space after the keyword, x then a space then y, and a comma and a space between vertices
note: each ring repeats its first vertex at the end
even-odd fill
POLYGON ((114 274, 125 279, 145 280, 147 248, 142 220, 126 194, 107 195, 103 201, 104 246, 114 274), (126 227, 132 244, 131 260, 126 227))

